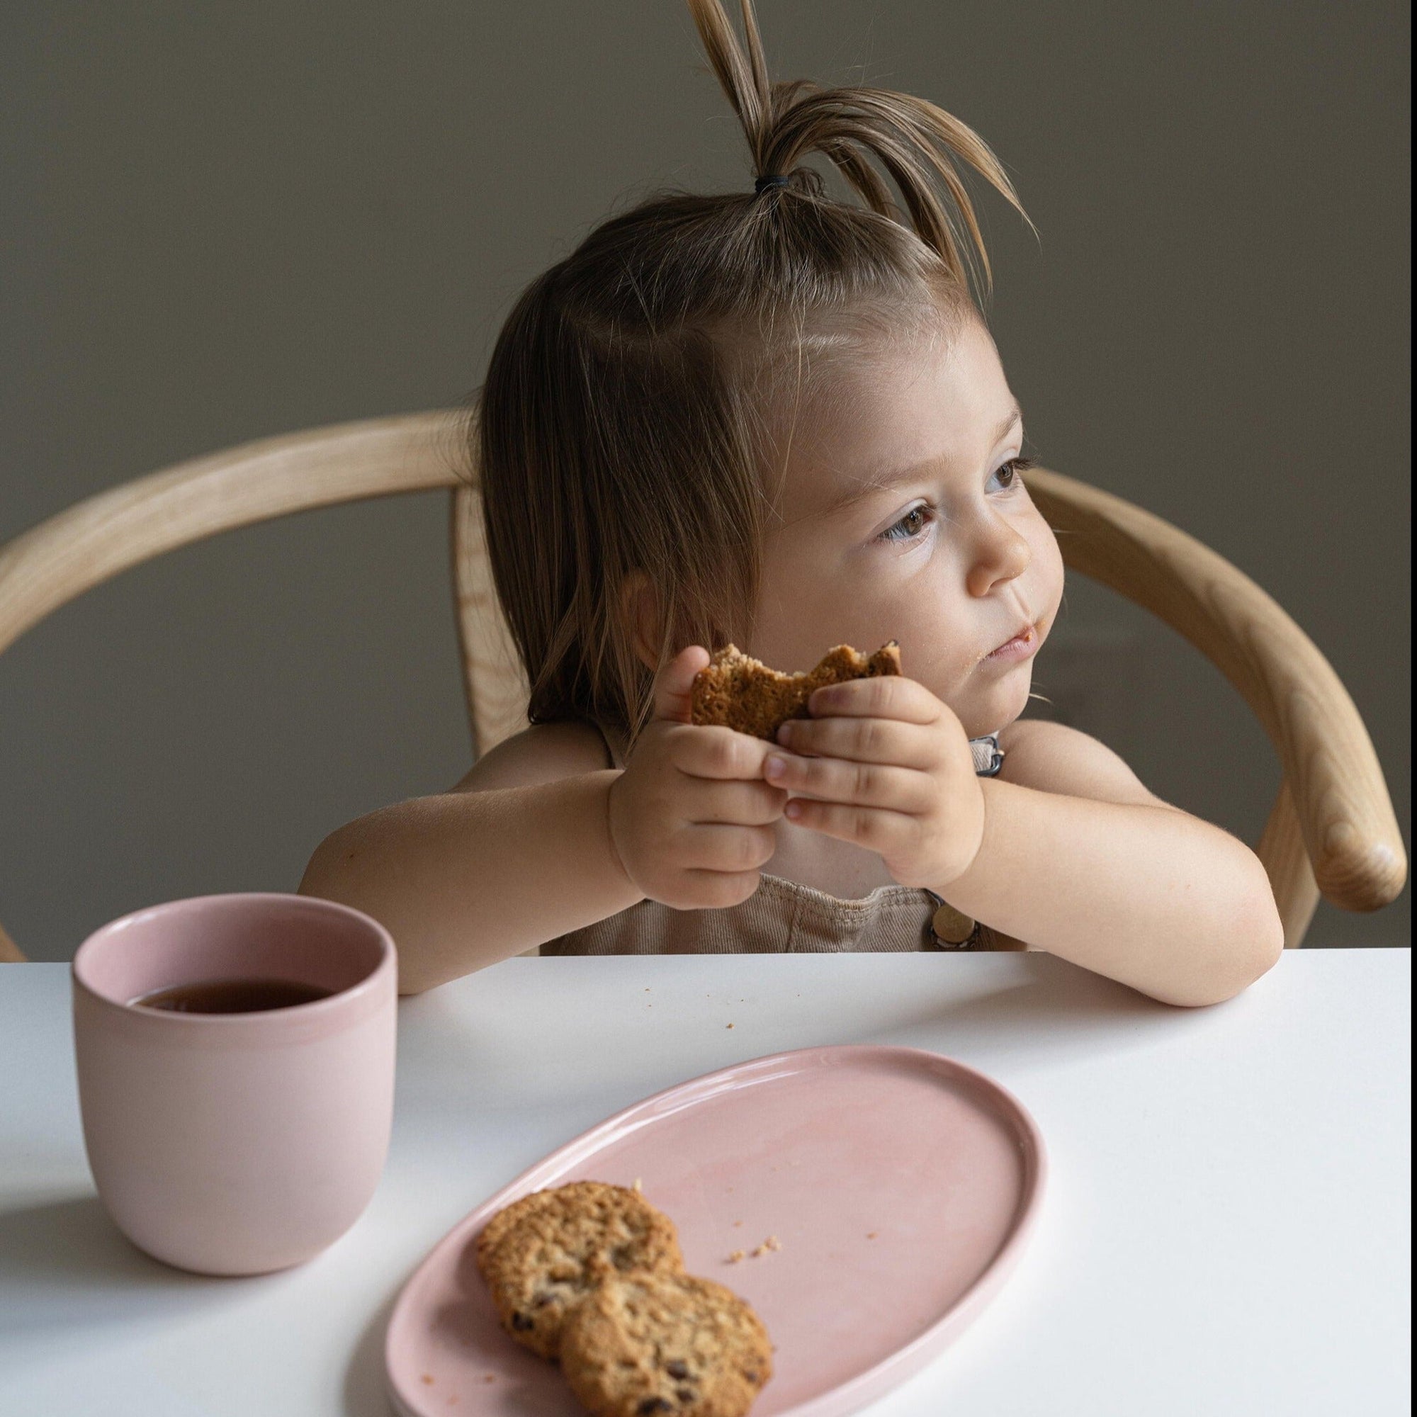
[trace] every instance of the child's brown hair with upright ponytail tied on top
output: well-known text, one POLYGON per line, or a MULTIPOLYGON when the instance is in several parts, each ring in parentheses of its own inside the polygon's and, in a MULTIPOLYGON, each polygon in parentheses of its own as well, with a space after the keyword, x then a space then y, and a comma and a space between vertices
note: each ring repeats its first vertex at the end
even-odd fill
POLYGON ((1023 213, 983 140, 932 103, 769 84, 741 4, 747 52, 720 0, 689 0, 758 190, 660 194, 592 231, 517 300, 469 422, 531 723, 638 734, 655 672, 636 653, 636 584, 653 595, 660 665, 684 645, 751 642, 784 411, 818 397, 832 359, 935 339, 972 309, 971 279, 986 289, 951 154, 1023 213), (826 196, 802 166, 813 152, 870 210, 826 196))

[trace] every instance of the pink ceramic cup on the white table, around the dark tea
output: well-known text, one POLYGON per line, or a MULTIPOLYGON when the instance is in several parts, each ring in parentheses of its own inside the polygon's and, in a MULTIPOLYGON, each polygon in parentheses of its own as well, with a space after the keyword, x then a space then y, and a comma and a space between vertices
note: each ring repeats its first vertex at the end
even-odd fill
POLYGON ((317 1254, 374 1195, 394 1110, 394 942, 306 896, 201 896, 135 911, 74 956, 84 1144, 118 1227, 200 1274, 317 1254), (132 1000, 211 979, 336 990, 258 1013, 132 1000))

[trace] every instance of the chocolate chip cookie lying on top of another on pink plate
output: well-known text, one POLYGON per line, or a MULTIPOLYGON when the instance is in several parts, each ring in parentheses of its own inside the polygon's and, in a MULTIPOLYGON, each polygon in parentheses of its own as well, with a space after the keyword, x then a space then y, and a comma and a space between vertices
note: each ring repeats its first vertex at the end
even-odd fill
POLYGON ((567 1318, 561 1370, 595 1417, 743 1417, 772 1376, 772 1345, 713 1280, 625 1274, 567 1318))

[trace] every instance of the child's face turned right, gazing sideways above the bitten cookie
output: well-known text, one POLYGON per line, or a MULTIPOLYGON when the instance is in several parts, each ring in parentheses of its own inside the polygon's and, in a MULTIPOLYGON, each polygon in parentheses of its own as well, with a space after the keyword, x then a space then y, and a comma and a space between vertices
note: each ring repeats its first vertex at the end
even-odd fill
POLYGON ((1033 656, 985 656, 1026 625, 1040 645, 1063 595, 1053 531, 1022 478, 1010 480, 1022 438, 978 319, 935 351, 842 373, 786 451, 745 649, 791 672, 832 645, 870 653, 898 639, 903 670, 969 737, 1012 723, 1033 656))

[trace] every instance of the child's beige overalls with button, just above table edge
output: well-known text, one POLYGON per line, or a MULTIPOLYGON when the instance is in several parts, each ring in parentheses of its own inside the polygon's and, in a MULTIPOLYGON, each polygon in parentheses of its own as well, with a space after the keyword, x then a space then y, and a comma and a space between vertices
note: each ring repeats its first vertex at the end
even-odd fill
MULTIPOLYGON (((611 767, 623 757, 619 735, 601 731, 611 767)), ((998 734, 971 738, 975 772, 993 777, 1003 762, 998 734)), ((764 871, 741 904, 674 910, 642 900, 615 915, 541 945, 543 955, 779 955, 915 949, 989 949, 989 927, 976 924, 934 891, 877 886, 860 900, 839 900, 764 871)))

